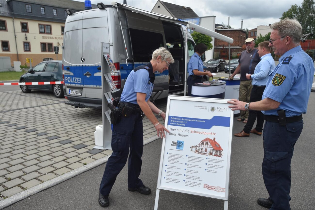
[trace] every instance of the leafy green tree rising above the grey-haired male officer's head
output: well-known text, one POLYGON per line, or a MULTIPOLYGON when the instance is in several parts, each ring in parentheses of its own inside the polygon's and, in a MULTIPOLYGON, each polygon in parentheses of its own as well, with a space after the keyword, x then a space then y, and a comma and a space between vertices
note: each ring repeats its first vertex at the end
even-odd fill
POLYGON ((301 23, 303 34, 315 32, 315 1, 304 0, 301 7, 296 4, 291 5, 288 11, 282 14, 280 18, 295 18, 301 23))

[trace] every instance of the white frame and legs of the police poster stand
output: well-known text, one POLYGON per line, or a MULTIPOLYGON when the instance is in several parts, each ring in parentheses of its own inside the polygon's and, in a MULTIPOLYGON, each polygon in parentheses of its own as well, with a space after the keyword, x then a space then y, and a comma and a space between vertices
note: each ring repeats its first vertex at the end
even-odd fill
MULTIPOLYGON (((225 106, 228 105, 227 99, 213 99, 213 98, 199 98, 199 97, 185 97, 185 96, 170 95, 170 96, 168 96, 168 100, 167 100, 167 109, 166 109, 167 111, 166 111, 166 118, 165 118, 165 127, 168 129, 170 127, 170 125, 168 125, 169 113, 172 109, 178 109, 178 107, 170 107, 171 100, 182 101, 181 107, 185 106, 185 101, 193 101, 194 103, 196 103, 196 105, 198 105, 198 102, 218 103, 218 104, 224 104, 225 106)), ((208 107, 208 108, 210 108, 210 107, 208 107)), ((189 111, 191 112, 192 110, 187 110, 187 112, 189 112, 189 111)), ((230 111, 230 113, 228 113, 228 116, 230 117, 230 126, 229 126, 229 134, 228 134, 228 148, 227 148, 228 151, 227 151, 227 159, 226 159, 226 180, 225 180, 225 193, 224 193, 224 195, 223 196, 209 195, 209 194, 204 194, 204 193, 192 192, 189 190, 180 190, 180 189, 174 189, 174 188, 170 188, 170 187, 161 186, 162 169, 163 169, 163 164, 165 164, 165 163, 163 163, 164 155, 166 152, 165 151, 165 144, 167 142, 167 139, 164 138, 163 143, 162 143, 162 150, 161 150, 159 173, 158 173, 158 179, 157 179, 157 193, 156 193, 154 209, 157 209, 159 190, 170 190, 170 191, 175 191, 175 192, 180 192, 180 193, 185 193, 185 194, 192 194, 192 195, 197 195, 197 196, 204 196, 204 197, 209 197, 209 198, 221 199, 221 200, 225 201, 224 209, 227 209, 228 195, 229 195, 229 178, 230 178, 231 148, 232 148, 232 135, 233 135, 233 119, 234 119, 234 111, 232 111, 230 108, 229 108, 229 111, 230 111)), ((183 114, 182 117, 185 117, 185 114, 183 114)), ((203 116, 196 116, 196 118, 205 119, 205 116, 204 115, 203 116)), ((186 127, 182 127, 182 128, 186 128, 186 127)), ((224 154, 226 154, 226 152, 224 154)))

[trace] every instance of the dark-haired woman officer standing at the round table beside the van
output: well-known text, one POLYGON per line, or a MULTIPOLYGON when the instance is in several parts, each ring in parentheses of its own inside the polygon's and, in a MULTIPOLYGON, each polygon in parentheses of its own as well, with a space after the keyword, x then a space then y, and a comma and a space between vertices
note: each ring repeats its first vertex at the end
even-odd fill
POLYGON ((188 63, 188 96, 192 96, 192 84, 201 83, 201 79, 203 75, 208 75, 208 77, 212 77, 210 71, 203 71, 203 62, 200 58, 207 50, 207 46, 204 43, 199 43, 195 47, 195 53, 192 54, 192 57, 188 63))

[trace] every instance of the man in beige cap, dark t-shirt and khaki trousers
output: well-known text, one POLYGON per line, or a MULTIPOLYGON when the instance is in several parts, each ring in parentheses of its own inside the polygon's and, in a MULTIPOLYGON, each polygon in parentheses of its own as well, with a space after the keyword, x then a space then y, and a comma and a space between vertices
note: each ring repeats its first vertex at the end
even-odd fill
MULTIPOLYGON (((238 100, 243 102, 249 102, 250 93, 252 91, 252 81, 246 78, 246 74, 254 74, 256 65, 260 61, 258 55, 258 50, 255 49, 255 40, 253 38, 248 38, 245 40, 246 50, 244 50, 238 59, 238 67, 236 67, 233 74, 229 77, 229 80, 232 80, 233 77, 241 72, 240 84, 239 84, 239 93, 238 100)), ((238 118, 238 121, 243 121, 247 123, 249 112, 240 111, 241 116, 238 118)))

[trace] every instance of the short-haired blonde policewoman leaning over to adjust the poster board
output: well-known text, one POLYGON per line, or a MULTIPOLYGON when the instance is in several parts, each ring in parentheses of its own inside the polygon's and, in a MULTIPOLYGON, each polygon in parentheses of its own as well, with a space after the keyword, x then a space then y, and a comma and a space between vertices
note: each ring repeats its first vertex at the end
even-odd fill
POLYGON ((113 126, 112 131, 112 156, 108 158, 104 175, 100 184, 99 204, 102 207, 109 205, 108 195, 114 185, 118 173, 123 169, 128 160, 128 190, 138 191, 141 194, 150 194, 151 189, 144 186, 139 179, 141 171, 141 156, 143 151, 143 126, 140 109, 152 122, 157 130, 158 137, 165 137, 169 132, 160 124, 153 114, 162 116, 165 113, 153 105, 149 98, 152 94, 154 72, 162 73, 174 63, 172 55, 163 47, 156 49, 152 60, 147 65, 138 66, 132 70, 126 80, 118 107, 122 110, 120 121, 113 126))

